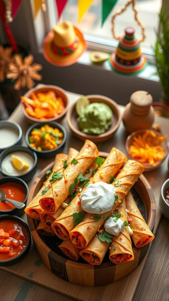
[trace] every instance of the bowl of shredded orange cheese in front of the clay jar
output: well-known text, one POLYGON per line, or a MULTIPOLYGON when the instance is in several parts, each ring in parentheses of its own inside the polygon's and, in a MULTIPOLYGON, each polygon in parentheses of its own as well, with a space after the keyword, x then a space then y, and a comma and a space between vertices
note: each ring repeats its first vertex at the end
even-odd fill
POLYGON ((126 151, 132 160, 143 164, 145 171, 153 170, 167 157, 167 135, 149 129, 135 131, 126 140, 126 151))

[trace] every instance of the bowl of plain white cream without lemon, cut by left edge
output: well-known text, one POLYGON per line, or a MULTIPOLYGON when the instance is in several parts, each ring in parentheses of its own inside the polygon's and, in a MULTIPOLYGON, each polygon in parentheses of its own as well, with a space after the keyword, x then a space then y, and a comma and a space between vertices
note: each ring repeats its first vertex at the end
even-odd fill
POLYGON ((19 124, 2 120, 0 121, 0 152, 8 147, 22 144, 22 129, 19 124))

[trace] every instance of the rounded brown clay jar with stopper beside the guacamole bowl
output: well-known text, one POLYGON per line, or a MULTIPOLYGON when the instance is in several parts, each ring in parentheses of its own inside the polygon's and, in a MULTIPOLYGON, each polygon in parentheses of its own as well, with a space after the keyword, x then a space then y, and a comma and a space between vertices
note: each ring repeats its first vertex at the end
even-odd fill
POLYGON ((123 123, 127 132, 149 129, 154 122, 152 96, 146 91, 136 91, 130 97, 123 114, 123 123))

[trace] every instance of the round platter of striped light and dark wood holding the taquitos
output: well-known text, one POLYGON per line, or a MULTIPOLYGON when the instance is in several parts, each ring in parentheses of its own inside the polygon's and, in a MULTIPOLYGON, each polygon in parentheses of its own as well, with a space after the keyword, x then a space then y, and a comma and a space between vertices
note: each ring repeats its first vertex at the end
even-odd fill
MULTIPOLYGON (((107 153, 100 152, 100 156, 107 157, 107 153)), ((45 180, 46 171, 53 167, 54 162, 49 164, 41 171, 33 183, 28 197, 28 204, 39 191, 45 180)), ((155 198, 149 182, 144 175, 140 175, 134 185, 134 193, 139 201, 139 207, 144 211, 144 218, 150 228, 153 230, 155 223, 155 198)), ((135 198, 136 200, 136 198, 135 198)), ((73 284, 85 286, 98 286, 115 282, 129 273, 131 273, 140 264, 147 253, 149 244, 142 248, 133 246, 134 260, 122 264, 113 264, 109 261, 108 255, 105 256, 100 265, 90 265, 83 259, 75 262, 68 259, 57 247, 61 240, 58 237, 42 237, 36 232, 38 221, 27 216, 28 225, 36 250, 47 268, 49 268, 58 277, 73 284)))

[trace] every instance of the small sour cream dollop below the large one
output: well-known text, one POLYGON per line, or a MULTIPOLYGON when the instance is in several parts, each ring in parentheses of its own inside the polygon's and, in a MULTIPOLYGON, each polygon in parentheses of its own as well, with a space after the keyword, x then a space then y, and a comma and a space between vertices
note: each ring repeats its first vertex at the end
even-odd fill
POLYGON ((112 235, 118 235, 123 231, 124 225, 121 219, 116 219, 115 217, 110 217, 104 223, 105 231, 112 235))

